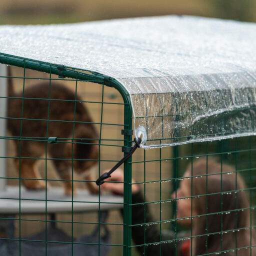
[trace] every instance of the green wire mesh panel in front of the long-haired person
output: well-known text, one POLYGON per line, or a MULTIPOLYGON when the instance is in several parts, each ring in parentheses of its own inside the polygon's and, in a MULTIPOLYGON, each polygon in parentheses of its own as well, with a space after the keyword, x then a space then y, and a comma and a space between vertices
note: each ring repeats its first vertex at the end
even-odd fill
POLYGON ((255 255, 254 136, 144 150, 131 164, 134 255, 255 255))

